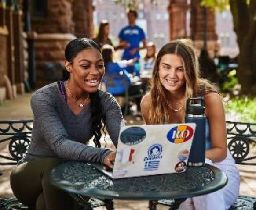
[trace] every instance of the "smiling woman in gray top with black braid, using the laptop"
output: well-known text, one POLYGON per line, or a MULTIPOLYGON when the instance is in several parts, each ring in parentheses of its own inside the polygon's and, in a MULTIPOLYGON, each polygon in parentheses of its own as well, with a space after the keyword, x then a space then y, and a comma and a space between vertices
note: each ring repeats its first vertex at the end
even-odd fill
POLYGON ((38 89, 31 98, 32 140, 26 156, 11 173, 17 199, 37 210, 73 210, 76 202, 49 182, 49 173, 64 160, 80 160, 113 167, 115 152, 100 148, 102 122, 114 146, 121 125, 115 98, 99 90, 105 74, 97 43, 74 39, 65 49, 63 78, 38 89), (88 146, 93 137, 96 147, 88 146))

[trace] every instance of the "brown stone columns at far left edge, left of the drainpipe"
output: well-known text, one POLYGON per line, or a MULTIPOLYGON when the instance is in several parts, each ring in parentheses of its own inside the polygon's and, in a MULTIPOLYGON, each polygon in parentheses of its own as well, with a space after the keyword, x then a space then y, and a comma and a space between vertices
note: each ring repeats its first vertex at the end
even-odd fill
POLYGON ((0 103, 24 93, 24 34, 19 2, 0 0, 0 103))

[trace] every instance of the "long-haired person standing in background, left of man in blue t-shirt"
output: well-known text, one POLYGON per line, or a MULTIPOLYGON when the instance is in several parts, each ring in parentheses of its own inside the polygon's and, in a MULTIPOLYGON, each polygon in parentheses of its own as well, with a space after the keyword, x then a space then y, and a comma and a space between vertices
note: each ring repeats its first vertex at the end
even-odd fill
POLYGON ((110 24, 107 20, 102 20, 99 25, 99 33, 97 37, 93 39, 93 41, 95 41, 100 48, 102 48, 104 44, 109 44, 113 46, 113 43, 109 38, 109 34, 110 34, 110 24))

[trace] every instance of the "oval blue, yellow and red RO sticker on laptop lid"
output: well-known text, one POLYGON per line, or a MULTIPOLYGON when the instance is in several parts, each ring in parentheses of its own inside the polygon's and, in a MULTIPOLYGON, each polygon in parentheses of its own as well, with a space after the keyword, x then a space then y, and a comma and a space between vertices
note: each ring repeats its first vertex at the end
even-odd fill
POLYGON ((167 133, 167 139, 169 142, 180 144, 190 140, 193 134, 194 130, 190 126, 178 125, 167 133))

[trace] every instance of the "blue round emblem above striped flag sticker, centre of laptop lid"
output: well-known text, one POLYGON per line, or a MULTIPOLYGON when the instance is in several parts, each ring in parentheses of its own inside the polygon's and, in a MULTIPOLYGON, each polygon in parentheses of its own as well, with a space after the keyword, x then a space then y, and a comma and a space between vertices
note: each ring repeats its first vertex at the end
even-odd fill
POLYGON ((162 146, 160 144, 154 144, 148 149, 148 157, 144 157, 144 171, 157 170, 162 158, 162 146))

